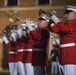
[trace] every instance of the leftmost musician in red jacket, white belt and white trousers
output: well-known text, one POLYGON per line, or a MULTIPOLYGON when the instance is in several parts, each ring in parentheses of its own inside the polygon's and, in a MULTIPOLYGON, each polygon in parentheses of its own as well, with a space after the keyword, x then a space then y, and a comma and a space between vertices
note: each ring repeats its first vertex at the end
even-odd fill
POLYGON ((9 36, 9 40, 6 36, 3 36, 3 42, 8 46, 8 65, 10 75, 17 75, 16 45, 11 36, 9 36))

